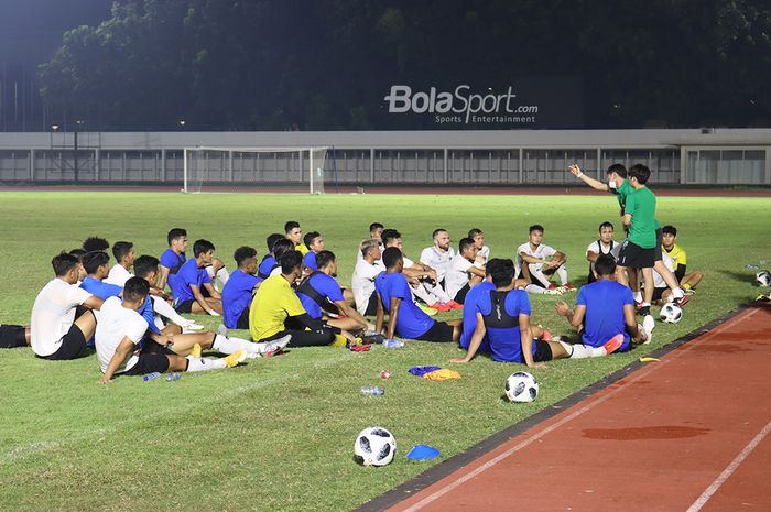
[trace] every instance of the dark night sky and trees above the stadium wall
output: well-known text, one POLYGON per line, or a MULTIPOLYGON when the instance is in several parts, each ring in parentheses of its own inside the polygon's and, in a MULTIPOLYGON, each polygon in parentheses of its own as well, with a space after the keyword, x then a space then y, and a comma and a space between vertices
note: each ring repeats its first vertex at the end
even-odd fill
POLYGON ((770 6, 0 0, 0 130, 768 127, 770 6), (512 86, 539 113, 389 115, 397 84, 512 86))

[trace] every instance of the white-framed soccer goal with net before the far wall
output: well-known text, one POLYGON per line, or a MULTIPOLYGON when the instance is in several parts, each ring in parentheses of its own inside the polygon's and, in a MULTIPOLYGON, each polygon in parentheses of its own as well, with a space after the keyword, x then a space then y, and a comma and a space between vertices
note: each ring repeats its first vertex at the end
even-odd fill
POLYGON ((324 194, 326 156, 327 148, 185 148, 182 192, 324 194))

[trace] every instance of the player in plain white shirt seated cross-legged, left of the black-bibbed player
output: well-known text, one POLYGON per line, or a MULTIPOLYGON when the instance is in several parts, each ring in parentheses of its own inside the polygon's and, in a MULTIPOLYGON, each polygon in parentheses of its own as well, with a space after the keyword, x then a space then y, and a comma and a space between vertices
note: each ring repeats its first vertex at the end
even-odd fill
POLYGON ((565 253, 543 243, 543 226, 530 227, 530 238, 526 243, 517 248, 517 272, 530 284, 525 288, 530 293, 549 293, 573 291, 574 286, 567 283, 567 268, 565 253), (560 277, 560 290, 552 284, 554 274, 560 277))

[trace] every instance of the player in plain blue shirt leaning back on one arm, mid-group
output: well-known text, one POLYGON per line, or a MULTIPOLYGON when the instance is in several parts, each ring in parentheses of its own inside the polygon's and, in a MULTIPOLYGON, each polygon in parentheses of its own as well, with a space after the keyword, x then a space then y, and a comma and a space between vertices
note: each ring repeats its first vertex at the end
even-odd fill
POLYGON ((374 290, 380 296, 376 328, 380 333, 383 314, 389 314, 388 338, 395 335, 422 341, 457 341, 463 320, 436 322, 415 304, 406 276, 402 273, 404 259, 397 247, 389 247, 382 255, 386 272, 374 280, 374 290))

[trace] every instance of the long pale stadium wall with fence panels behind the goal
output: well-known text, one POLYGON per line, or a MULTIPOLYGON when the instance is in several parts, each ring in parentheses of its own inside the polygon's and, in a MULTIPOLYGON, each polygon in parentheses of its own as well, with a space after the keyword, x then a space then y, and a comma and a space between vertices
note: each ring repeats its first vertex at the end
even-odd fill
MULTIPOLYGON (((658 184, 771 185, 771 129, 0 133, 0 181, 67 183, 77 166, 80 182, 175 184, 196 146, 328 146, 325 179, 340 184, 563 185, 571 163, 601 177, 620 162, 658 184)), ((218 182, 305 181, 280 153, 206 162, 218 182)))

